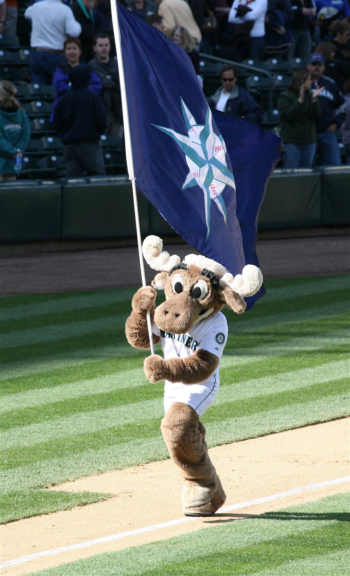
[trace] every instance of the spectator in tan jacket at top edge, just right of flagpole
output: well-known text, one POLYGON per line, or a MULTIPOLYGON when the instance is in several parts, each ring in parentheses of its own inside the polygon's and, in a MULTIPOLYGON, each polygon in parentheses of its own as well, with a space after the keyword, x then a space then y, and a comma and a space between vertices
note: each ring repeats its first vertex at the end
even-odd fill
POLYGON ((186 0, 161 0, 158 5, 158 14, 163 18, 164 32, 167 36, 171 38, 174 26, 183 26, 189 32, 194 45, 200 44, 201 31, 186 0))

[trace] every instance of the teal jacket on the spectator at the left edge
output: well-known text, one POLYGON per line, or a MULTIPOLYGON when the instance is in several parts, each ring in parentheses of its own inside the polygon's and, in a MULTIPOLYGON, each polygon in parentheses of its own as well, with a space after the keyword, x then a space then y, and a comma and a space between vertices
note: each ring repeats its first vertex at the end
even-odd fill
POLYGON ((27 114, 18 109, 5 112, 0 109, 0 174, 15 174, 14 160, 17 150, 24 151, 31 137, 27 114))

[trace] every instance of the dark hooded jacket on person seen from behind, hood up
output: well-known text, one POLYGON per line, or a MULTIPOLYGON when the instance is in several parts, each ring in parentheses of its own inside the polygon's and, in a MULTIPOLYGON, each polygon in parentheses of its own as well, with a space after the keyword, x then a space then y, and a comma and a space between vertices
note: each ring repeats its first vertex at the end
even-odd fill
POLYGON ((69 71, 71 89, 55 107, 52 125, 63 144, 99 140, 106 129, 106 108, 100 96, 88 89, 90 74, 89 66, 74 66, 69 71))

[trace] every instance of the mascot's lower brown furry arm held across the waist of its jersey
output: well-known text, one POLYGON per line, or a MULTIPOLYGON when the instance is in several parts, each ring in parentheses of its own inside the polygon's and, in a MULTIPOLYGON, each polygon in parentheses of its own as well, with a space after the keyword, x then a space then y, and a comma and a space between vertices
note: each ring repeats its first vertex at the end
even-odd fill
POLYGON ((170 358, 163 360, 158 355, 148 356, 144 361, 144 371, 153 384, 160 380, 183 382, 183 384, 199 384, 216 370, 219 358, 199 348, 186 358, 170 358))

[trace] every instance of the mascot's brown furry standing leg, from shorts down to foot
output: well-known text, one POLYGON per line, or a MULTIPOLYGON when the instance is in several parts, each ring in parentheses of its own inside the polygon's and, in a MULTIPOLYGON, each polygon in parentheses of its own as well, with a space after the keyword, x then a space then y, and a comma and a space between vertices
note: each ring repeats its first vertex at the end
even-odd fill
POLYGON ((205 427, 197 412, 175 402, 161 421, 161 433, 171 456, 185 480, 182 506, 185 516, 212 516, 226 495, 205 442, 205 427))

